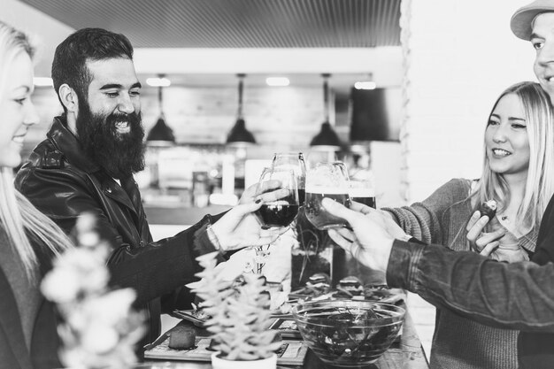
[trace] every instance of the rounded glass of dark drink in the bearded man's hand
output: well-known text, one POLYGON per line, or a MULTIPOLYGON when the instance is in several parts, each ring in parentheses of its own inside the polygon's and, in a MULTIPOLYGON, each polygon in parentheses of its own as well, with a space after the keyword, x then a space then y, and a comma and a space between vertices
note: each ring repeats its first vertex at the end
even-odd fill
POLYGON ((258 195, 277 189, 268 186, 268 181, 280 181, 280 188, 286 188, 287 194, 271 202, 264 202, 255 214, 264 229, 288 227, 296 218, 300 206, 296 175, 290 169, 265 168, 258 181, 258 195))

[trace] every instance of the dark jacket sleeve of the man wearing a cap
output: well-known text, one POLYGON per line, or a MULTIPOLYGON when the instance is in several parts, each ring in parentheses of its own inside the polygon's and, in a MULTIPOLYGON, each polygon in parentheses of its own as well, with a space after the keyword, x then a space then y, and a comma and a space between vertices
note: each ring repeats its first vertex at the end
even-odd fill
POLYGON ((554 332, 554 264, 500 263, 474 252, 395 241, 390 287, 493 327, 554 332))

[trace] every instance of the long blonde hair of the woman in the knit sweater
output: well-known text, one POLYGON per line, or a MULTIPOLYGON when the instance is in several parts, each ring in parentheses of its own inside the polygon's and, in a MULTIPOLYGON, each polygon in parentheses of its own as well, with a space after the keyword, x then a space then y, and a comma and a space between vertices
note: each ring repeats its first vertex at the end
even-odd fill
MULTIPOLYGON (((523 201, 519 204, 516 225, 536 227, 550 197, 554 194, 554 112, 550 96, 538 83, 520 82, 504 90, 496 100, 489 117, 500 99, 510 94, 518 96, 523 105, 530 151, 525 193, 523 201)), ((479 199, 477 206, 495 199, 498 211, 502 211, 510 203, 510 188, 502 174, 494 173, 490 169, 486 150, 481 180, 473 196, 479 199)))

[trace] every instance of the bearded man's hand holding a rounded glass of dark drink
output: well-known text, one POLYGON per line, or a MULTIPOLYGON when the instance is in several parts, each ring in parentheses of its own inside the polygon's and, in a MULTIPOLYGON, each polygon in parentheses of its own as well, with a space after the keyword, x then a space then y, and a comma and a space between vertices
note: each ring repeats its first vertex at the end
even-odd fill
POLYGON ((280 181, 266 181, 257 194, 258 185, 247 188, 238 205, 212 225, 222 251, 238 250, 248 246, 263 246, 274 242, 288 227, 262 229, 254 215, 264 202, 272 202, 289 195, 289 190, 279 188, 280 181))

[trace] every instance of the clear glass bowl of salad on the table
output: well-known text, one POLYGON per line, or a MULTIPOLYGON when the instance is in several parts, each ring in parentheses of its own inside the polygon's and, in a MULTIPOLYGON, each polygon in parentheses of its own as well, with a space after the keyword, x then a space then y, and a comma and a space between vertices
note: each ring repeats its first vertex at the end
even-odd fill
POLYGON ((395 341, 405 310, 392 304, 333 300, 292 309, 304 342, 324 362, 344 367, 372 364, 395 341))

